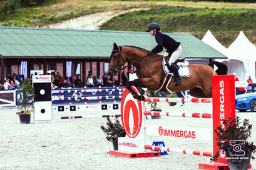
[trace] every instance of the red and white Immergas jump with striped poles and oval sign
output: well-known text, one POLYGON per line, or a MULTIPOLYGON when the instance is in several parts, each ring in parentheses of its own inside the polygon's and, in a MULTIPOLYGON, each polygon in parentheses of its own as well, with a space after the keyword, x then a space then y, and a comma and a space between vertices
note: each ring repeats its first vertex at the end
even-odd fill
MULTIPOLYGON (((212 77, 212 99, 177 99, 177 98, 146 98, 147 101, 155 102, 191 102, 191 103, 212 103, 213 113, 172 113, 170 112, 150 112, 145 111, 145 102, 133 98, 126 89, 121 99, 121 121, 126 132, 126 137, 118 138, 117 151, 110 151, 111 155, 123 156, 126 158, 140 158, 160 156, 160 153, 151 150, 168 151, 173 153, 194 154, 200 156, 212 156, 218 151, 215 139, 214 129, 222 126, 222 121, 228 118, 235 118, 235 77, 234 76, 213 76, 212 77), (145 115, 155 116, 179 116, 190 118, 212 119, 212 132, 204 128, 182 128, 168 126, 146 126, 145 115), (133 117, 131 119, 131 117, 133 117), (132 125, 133 127, 130 127, 132 125), (213 133, 213 134, 211 134, 213 133), (213 142, 213 151, 194 151, 191 149, 169 148, 161 146, 152 146, 150 140, 146 139, 146 134, 156 136, 170 136, 173 138, 211 140, 213 142), (182 137, 181 137, 182 136, 182 137)), ((133 87, 132 87, 133 88, 133 87)), ((138 91, 133 88, 136 93, 138 91)), ((139 94, 139 93, 138 93, 139 94)), ((220 151, 218 161, 214 163, 199 164, 200 169, 228 169, 225 153, 220 151)))

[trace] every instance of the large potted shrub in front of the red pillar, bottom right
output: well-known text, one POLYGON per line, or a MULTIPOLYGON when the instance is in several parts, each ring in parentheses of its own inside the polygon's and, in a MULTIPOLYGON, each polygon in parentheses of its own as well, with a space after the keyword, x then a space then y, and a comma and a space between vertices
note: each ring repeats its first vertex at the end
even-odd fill
MULTIPOLYGON (((215 129, 217 133, 216 143, 220 151, 225 151, 228 167, 234 170, 248 169, 250 158, 255 159, 252 153, 255 153, 256 146, 248 142, 251 134, 252 124, 248 119, 243 121, 237 116, 223 121, 224 128, 218 126, 215 129)), ((217 161, 220 152, 217 152, 212 161, 217 161)))

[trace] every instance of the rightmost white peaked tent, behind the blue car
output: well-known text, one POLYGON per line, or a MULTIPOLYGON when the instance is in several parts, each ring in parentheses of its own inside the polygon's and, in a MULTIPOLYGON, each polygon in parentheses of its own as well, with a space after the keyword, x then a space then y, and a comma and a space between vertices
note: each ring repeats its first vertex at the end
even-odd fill
POLYGON ((255 82, 256 47, 247 39, 243 31, 227 48, 227 51, 228 60, 223 63, 229 66, 230 71, 228 73, 236 73, 236 76, 242 81, 251 76, 253 82, 255 82))

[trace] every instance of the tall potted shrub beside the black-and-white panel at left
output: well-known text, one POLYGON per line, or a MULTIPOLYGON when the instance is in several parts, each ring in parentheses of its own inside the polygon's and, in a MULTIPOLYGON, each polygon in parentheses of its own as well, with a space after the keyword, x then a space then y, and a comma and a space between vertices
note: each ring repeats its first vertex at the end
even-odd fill
POLYGON ((34 99, 34 89, 29 79, 25 79, 23 83, 19 86, 20 91, 18 93, 18 112, 19 121, 21 124, 29 124, 31 113, 33 111, 33 99, 34 99))

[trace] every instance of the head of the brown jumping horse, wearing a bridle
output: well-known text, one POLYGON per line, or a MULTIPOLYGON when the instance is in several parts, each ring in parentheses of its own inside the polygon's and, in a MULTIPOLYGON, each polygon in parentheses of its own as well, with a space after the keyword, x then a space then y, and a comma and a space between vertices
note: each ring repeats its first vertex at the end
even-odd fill
POLYGON ((108 66, 108 75, 116 76, 121 70, 121 66, 126 63, 124 54, 121 53, 121 47, 114 43, 113 50, 110 56, 110 65, 108 66))

